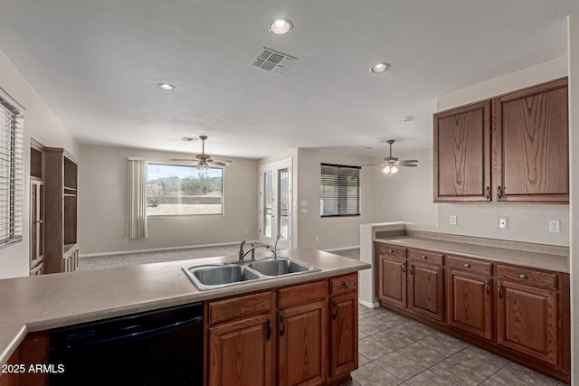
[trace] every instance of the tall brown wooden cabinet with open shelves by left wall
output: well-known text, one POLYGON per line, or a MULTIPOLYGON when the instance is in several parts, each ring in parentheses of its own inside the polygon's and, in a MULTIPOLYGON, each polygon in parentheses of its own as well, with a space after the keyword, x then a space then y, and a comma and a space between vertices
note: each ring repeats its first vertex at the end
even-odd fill
POLYGON ((62 148, 44 148, 44 272, 78 266, 78 164, 62 148))

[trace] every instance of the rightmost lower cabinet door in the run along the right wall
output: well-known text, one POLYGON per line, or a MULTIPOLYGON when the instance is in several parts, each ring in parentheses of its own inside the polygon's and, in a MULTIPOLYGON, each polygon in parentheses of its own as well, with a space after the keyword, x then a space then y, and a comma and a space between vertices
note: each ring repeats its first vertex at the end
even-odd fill
POLYGON ((498 283, 498 344, 557 364, 555 290, 498 283))

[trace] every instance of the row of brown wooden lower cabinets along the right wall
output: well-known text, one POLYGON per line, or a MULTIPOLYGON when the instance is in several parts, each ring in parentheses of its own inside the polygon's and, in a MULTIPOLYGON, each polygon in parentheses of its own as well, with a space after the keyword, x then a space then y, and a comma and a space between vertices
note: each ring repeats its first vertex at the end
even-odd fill
POLYGON ((568 274, 382 242, 375 266, 381 306, 570 381, 568 274))

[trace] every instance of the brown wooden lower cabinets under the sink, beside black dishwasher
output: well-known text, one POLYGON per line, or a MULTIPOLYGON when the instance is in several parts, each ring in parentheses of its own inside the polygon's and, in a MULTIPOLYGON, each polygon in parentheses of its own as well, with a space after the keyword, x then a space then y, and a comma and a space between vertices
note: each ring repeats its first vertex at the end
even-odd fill
POLYGON ((322 385, 357 368, 357 273, 205 304, 205 383, 322 385))

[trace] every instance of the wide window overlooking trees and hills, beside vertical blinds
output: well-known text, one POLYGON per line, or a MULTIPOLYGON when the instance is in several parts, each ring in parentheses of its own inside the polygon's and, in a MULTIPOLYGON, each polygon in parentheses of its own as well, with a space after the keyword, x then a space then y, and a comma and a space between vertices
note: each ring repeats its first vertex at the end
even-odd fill
POLYGON ((223 169, 147 164, 147 216, 223 214, 223 169))

